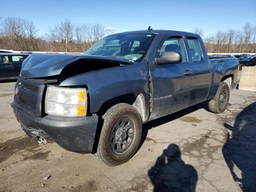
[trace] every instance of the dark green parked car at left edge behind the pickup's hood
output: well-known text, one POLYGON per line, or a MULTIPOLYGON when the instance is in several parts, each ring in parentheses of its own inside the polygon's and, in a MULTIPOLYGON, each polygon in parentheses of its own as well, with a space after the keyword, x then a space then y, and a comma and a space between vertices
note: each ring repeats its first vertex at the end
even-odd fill
POLYGON ((0 53, 0 81, 16 79, 23 60, 28 56, 25 53, 0 53))

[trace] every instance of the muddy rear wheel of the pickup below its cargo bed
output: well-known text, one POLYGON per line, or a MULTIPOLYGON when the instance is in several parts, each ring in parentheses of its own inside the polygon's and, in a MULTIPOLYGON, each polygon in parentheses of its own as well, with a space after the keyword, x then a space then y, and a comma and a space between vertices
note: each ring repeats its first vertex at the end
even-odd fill
POLYGON ((208 101, 208 108, 213 113, 222 113, 226 110, 229 101, 229 86, 220 82, 218 91, 213 99, 208 101))

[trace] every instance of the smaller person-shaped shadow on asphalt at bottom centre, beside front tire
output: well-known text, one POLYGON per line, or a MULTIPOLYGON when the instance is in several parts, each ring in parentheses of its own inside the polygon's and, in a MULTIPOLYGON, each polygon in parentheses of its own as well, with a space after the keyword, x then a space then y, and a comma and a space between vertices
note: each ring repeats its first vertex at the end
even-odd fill
POLYGON ((180 148, 170 144, 148 171, 154 192, 194 192, 198 174, 181 159, 180 148))

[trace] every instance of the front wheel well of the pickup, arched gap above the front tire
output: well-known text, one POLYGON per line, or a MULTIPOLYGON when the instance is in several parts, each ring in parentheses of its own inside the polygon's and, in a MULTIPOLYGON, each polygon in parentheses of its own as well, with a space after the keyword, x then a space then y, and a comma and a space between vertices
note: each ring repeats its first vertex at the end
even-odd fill
POLYGON ((104 102, 104 104, 100 106, 100 109, 97 112, 97 114, 99 116, 104 115, 109 108, 111 108, 112 106, 118 103, 127 103, 132 105, 139 112, 142 122, 146 122, 145 98, 144 98, 144 95, 140 92, 121 95, 104 102))

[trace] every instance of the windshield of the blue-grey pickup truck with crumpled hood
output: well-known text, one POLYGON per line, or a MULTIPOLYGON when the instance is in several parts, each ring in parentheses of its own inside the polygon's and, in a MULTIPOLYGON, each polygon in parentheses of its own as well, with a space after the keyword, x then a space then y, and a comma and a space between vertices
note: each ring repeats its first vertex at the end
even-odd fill
POLYGON ((84 54, 97 56, 117 57, 135 62, 140 62, 155 34, 121 34, 103 38, 84 54))

